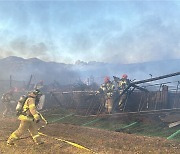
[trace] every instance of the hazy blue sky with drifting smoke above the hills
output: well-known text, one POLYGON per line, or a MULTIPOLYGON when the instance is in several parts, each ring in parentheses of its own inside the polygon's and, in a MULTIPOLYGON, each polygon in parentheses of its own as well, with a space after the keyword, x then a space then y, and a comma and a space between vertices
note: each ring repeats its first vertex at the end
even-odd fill
POLYGON ((0 58, 134 63, 180 58, 180 1, 2 1, 0 58))

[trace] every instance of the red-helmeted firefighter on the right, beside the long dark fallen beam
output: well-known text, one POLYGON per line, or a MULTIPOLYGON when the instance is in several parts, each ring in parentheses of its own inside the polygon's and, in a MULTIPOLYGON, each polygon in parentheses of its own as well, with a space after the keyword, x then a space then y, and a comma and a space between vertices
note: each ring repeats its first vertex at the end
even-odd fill
MULTIPOLYGON (((127 74, 123 74, 122 78, 117 81, 117 88, 119 91, 119 94, 121 94, 123 92, 124 89, 126 89, 128 87, 128 85, 130 84, 130 80, 128 79, 128 75, 127 74)), ((124 93, 119 100, 119 109, 123 110, 123 105, 124 102, 127 99, 127 93, 124 93)))

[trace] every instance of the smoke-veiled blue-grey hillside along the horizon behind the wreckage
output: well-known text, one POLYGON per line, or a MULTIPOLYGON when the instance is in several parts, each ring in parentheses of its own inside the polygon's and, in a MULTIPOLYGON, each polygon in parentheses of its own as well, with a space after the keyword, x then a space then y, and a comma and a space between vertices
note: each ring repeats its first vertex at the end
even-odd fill
POLYGON ((63 64, 45 62, 37 58, 23 59, 10 56, 0 59, 0 79, 7 80, 12 75, 14 80, 28 81, 30 75, 35 82, 44 80, 47 83, 58 81, 60 84, 70 84, 81 79, 85 81, 90 76, 98 83, 103 82, 103 77, 121 76, 127 73, 129 78, 141 80, 173 72, 179 72, 179 59, 154 61, 134 64, 110 64, 101 62, 82 62, 63 64))

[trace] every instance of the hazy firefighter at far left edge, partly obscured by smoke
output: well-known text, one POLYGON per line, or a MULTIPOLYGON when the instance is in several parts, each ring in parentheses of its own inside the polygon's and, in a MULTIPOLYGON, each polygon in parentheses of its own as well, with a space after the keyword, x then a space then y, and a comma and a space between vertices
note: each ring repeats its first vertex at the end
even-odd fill
POLYGON ((7 93, 4 93, 1 97, 1 102, 5 108, 4 112, 3 112, 3 118, 5 118, 7 116, 8 113, 12 113, 12 101, 15 101, 14 99, 14 89, 11 89, 10 91, 8 91, 7 93))

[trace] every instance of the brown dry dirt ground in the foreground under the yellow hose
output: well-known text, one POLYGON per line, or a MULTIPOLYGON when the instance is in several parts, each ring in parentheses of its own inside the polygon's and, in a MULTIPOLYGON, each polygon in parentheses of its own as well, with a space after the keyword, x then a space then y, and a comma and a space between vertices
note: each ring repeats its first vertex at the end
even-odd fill
POLYGON ((180 143, 158 137, 144 137, 100 130, 95 128, 80 127, 70 124, 53 123, 41 129, 48 135, 42 136, 43 145, 34 145, 28 132, 15 146, 7 146, 6 139, 18 127, 16 118, 0 119, 0 153, 4 154, 178 154, 180 143), (87 149, 81 149, 63 139, 76 143, 87 149))

